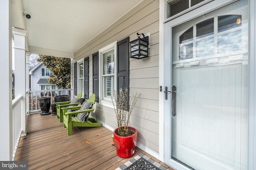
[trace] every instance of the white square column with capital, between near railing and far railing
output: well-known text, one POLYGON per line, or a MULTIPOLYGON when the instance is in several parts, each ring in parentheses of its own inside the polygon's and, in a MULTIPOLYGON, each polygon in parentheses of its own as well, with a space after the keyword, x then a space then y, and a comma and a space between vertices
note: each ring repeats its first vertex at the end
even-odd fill
POLYGON ((26 135, 26 33, 23 29, 13 28, 15 97, 22 96, 20 121, 22 136, 26 135))

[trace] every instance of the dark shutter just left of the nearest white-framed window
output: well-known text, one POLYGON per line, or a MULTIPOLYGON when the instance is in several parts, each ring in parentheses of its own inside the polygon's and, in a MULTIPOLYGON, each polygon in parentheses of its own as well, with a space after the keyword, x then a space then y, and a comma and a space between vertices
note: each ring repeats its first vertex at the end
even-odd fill
POLYGON ((95 102, 99 102, 99 53, 92 55, 92 91, 95 94, 95 102))

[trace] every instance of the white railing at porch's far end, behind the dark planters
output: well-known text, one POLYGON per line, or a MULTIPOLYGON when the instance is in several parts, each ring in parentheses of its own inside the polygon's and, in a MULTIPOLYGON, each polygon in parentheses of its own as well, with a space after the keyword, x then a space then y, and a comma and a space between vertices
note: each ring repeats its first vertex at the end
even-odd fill
POLYGON ((39 98, 51 97, 51 104, 54 103, 54 96, 70 95, 73 98, 73 89, 56 89, 56 90, 33 90, 29 91, 29 112, 40 111, 39 98))

